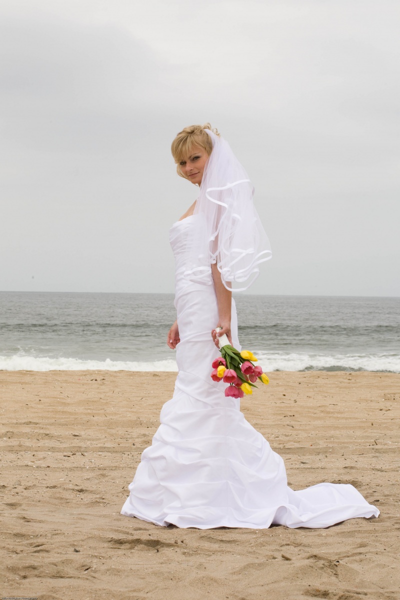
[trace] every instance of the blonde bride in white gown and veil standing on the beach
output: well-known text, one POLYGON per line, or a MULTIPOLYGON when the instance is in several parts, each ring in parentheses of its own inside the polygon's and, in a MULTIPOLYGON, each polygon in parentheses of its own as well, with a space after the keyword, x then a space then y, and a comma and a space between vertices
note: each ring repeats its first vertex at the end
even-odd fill
POLYGON ((121 514, 199 529, 329 527, 377 517, 350 484, 291 490, 284 461, 246 421, 239 398, 225 397, 223 383, 211 379, 218 337, 241 349, 232 290, 248 289, 271 252, 251 182, 218 131, 209 123, 186 127, 172 154, 178 175, 200 187, 170 228, 177 319, 167 344, 179 372, 121 514))

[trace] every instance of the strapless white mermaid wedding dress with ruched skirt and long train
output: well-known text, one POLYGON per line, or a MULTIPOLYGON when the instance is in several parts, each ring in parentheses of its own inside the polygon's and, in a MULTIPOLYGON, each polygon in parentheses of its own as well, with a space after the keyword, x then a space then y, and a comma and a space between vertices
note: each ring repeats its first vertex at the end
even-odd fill
MULTIPOLYGON (((195 218, 170 229, 181 338, 175 391, 161 410, 161 425, 142 454, 121 514, 199 529, 329 527, 377 517, 378 509, 350 484, 291 490, 282 458, 246 421, 240 400, 226 398, 224 383, 211 379, 211 362, 220 355, 211 337, 218 323, 215 289, 183 277, 185 240, 195 218)), ((234 300, 231 332, 240 349, 234 300)))

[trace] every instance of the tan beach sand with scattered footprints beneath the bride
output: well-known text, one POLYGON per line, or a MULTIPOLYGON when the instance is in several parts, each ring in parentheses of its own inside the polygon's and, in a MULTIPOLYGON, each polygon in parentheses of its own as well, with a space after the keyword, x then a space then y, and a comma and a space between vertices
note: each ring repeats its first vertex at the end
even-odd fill
POLYGON ((381 510, 329 529, 178 529, 119 514, 176 373, 1 371, 2 596, 400 598, 400 375, 271 373, 242 401, 295 490, 381 510))

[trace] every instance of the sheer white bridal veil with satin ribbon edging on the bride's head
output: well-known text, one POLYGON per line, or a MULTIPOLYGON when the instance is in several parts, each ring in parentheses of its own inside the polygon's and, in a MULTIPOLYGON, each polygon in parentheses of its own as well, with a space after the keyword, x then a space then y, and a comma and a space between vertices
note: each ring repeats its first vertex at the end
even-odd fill
POLYGON ((210 284, 210 265, 216 263, 224 286, 243 292, 260 274, 260 263, 271 258, 270 244, 255 210, 254 188, 247 173, 228 142, 205 131, 213 149, 193 213, 184 276, 210 284))

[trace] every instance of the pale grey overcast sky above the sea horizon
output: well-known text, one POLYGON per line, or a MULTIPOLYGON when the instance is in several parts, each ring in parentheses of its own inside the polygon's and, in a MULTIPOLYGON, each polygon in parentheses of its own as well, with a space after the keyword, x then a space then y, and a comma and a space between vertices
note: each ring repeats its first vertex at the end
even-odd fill
POLYGON ((400 2, 2 0, 0 290, 173 292, 210 121, 273 259, 248 293, 400 296, 400 2))

